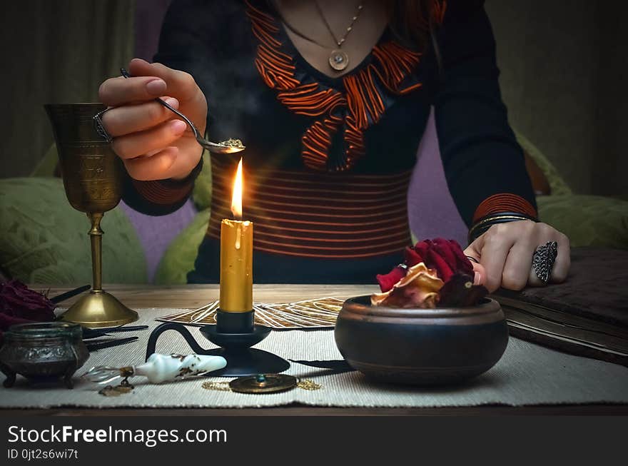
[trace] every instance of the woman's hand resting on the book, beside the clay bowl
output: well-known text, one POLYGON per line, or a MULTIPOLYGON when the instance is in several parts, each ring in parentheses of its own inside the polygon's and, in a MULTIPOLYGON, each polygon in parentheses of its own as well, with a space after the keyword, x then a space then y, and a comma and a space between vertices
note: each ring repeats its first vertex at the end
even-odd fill
POLYGON ((532 270, 532 256, 548 241, 558 243, 550 282, 560 283, 569 272, 569 238, 545 223, 517 221, 494 225, 473 241, 465 254, 478 261, 473 264, 476 284, 485 285, 491 293, 500 286, 521 290, 526 285, 543 285, 532 270))

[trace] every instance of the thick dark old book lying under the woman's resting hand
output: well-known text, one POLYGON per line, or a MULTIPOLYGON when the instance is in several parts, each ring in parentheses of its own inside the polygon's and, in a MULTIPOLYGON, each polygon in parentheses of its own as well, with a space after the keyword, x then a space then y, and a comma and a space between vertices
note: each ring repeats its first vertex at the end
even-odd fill
POLYGON ((628 367, 628 251, 574 248, 564 283, 492 297, 510 335, 628 367))

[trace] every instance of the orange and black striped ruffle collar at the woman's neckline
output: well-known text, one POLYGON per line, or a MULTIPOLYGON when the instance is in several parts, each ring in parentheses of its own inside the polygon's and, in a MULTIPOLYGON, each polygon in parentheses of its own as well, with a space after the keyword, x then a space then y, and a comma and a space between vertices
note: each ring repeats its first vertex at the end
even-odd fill
MULTIPOLYGON (((343 76, 344 91, 298 72, 293 56, 285 53, 280 26, 274 16, 245 0, 253 34, 258 39, 255 66, 263 81, 278 91, 277 98, 290 111, 315 121, 302 136, 302 158, 316 171, 346 171, 365 154, 365 130, 377 123, 395 96, 422 84, 413 76, 421 54, 386 41, 373 48, 370 63, 343 76), (330 160, 332 138, 344 129, 345 147, 338 160, 330 160)), ((444 9, 437 10, 442 20, 444 9)))

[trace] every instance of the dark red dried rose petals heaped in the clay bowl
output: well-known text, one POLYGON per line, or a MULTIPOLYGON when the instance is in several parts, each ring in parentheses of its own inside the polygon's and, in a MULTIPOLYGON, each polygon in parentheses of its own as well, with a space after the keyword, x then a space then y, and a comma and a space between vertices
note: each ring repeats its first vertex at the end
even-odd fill
MULTIPOLYGON (((473 276, 473 265, 455 240, 436 238, 419 241, 413 248, 405 248, 404 255, 407 267, 425 263, 428 269, 436 270, 438 277, 445 283, 456 274, 473 276)), ((397 266, 386 275, 378 275, 382 292, 391 290, 405 273, 404 268, 397 266)))

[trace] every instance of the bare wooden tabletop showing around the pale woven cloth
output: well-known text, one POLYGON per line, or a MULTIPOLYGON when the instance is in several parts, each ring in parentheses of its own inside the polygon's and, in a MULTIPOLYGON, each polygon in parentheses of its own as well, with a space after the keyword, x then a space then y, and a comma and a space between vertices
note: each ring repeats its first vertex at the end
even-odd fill
MULTIPOLYGON (((55 296, 73 287, 29 285, 34 290, 50 290, 55 296)), ((108 285, 104 287, 131 308, 198 308, 218 299, 218 285, 108 285)), ((378 288, 371 285, 255 285, 253 298, 258 302, 286 303, 320 296, 349 298, 373 293, 378 288)), ((69 306, 79 296, 61 305, 69 306)), ((311 407, 292 405, 285 407, 244 409, 107 409, 87 408, 0 410, 11 415, 628 415, 628 405, 544 405, 512 407, 485 405, 471 407, 401 407, 401 408, 354 408, 311 407)))

